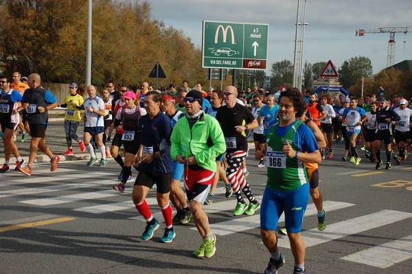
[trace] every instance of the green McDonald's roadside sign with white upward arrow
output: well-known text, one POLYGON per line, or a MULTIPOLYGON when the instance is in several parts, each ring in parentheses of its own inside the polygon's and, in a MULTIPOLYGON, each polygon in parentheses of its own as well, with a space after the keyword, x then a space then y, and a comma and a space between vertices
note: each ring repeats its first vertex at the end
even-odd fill
POLYGON ((266 69, 268 24, 203 21, 202 67, 266 69))

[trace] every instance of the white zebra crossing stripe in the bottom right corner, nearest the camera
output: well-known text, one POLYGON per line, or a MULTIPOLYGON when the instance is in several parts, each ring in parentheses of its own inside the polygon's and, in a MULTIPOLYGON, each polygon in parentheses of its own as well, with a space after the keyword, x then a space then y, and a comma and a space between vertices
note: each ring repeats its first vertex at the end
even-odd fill
POLYGON ((345 257, 342 260, 367 264, 385 269, 393 264, 412 258, 412 235, 380 244, 345 257))

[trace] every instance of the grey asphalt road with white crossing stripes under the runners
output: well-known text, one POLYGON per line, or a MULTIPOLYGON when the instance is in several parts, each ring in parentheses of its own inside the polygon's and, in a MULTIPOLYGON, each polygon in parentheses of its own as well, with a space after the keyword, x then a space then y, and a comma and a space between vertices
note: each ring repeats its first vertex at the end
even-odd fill
MULTIPOLYGON (((79 128, 81 133, 81 127, 79 128)), ((47 129, 52 151, 65 151, 62 122, 47 129)), ((19 144, 28 154, 29 142, 19 144)), ((76 151, 75 153, 79 152, 76 151)), ((341 160, 343 145, 319 168, 328 226, 317 230, 309 202, 303 231, 307 273, 411 273, 412 157, 392 170, 375 170, 341 160)), ((260 240, 259 212, 233 217, 236 198, 220 185, 214 204, 205 205, 217 251, 209 259, 192 252, 201 244, 194 225, 176 225, 176 238, 163 244, 155 190, 148 203, 161 228, 147 242, 139 236, 146 223, 126 192, 112 190, 119 166, 87 167, 82 155, 62 161, 56 172, 36 163, 32 176, 10 170, 0 176, 0 273, 263 273, 269 253, 260 240)), ((265 168, 250 151, 247 178, 262 199, 265 168)), ((280 222, 282 225, 283 222, 280 222)), ((286 258, 280 273, 293 272, 287 236, 279 236, 286 258)))

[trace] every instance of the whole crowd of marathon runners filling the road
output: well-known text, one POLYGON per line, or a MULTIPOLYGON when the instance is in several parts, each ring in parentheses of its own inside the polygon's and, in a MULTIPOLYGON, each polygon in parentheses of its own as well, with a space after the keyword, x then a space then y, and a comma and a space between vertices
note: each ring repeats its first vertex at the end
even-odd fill
POLYGON ((352 95, 332 98, 325 93, 318 100, 317 94, 298 89, 287 89, 275 98, 258 87, 203 91, 201 83, 190 89, 187 81, 180 89, 170 84, 167 91, 143 82, 139 91, 134 91, 127 84, 115 87, 109 81, 101 96, 93 85, 84 92, 71 83, 64 102, 57 102, 41 87, 41 76, 32 73, 24 79, 19 72, 12 78, 0 76, 0 89, 5 153, 1 173, 10 170, 13 154, 15 169, 30 176, 38 150, 50 158, 51 171, 56 170, 60 157, 49 150, 45 136, 48 111, 63 107, 67 151, 62 154, 74 155, 74 140, 81 152, 90 154, 88 166, 96 163, 104 167, 108 157, 113 157, 119 164, 119 183, 113 185, 113 191, 124 192, 128 184, 133 184, 133 203, 147 222, 142 240, 150 240, 160 227, 146 202, 148 192, 157 185, 157 203, 165 222, 161 242, 173 241, 174 225, 193 220, 201 236, 201 245, 193 255, 213 256, 216 236, 203 206, 213 203, 218 182, 222 181, 225 196, 236 196, 233 216, 261 211, 262 241, 271 254, 265 273, 277 273, 285 262, 277 249, 275 233, 282 213, 285 227, 278 233, 288 235, 294 273, 306 273, 301 223, 311 196, 317 208, 318 229, 326 227, 318 164, 336 157, 334 142, 345 143, 343 161, 358 165, 362 157, 357 146, 362 145, 365 157, 376 163, 376 169, 385 160, 385 168, 390 170, 391 159, 397 164, 406 159, 412 139, 412 101, 404 98, 391 102, 371 95, 356 100, 352 95), (81 121, 82 138, 77 134, 81 121), (247 181, 249 134, 258 168, 267 169, 261 202, 247 181), (31 137, 26 165, 16 146, 19 135, 21 141, 31 137), (381 148, 385 148, 386 158, 381 157, 381 148))

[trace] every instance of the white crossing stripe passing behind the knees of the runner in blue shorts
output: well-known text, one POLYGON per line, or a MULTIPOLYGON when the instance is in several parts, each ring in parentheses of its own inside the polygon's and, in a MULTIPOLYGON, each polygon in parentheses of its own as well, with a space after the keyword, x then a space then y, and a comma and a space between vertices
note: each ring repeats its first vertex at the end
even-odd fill
MULTIPOLYGON (((342 209, 345 207, 351 207, 353 205, 354 204, 351 204, 351 203, 334 202, 334 201, 324 201, 323 202, 323 208, 325 208, 325 211, 327 212, 331 212, 336 209, 342 209)), ((316 214, 317 214, 317 210, 314 204, 312 203, 308 205, 308 207, 306 208, 305 216, 311 216, 311 215, 316 215, 316 214)), ((284 214, 280 216, 279 222, 284 222, 284 214)), ((214 223, 210 225, 211 231, 213 231, 213 233, 220 235, 220 236, 225 236, 231 233, 253 229, 256 227, 260 227, 260 214, 255 214, 253 216, 247 216, 244 218, 234 218, 233 220, 227 220, 225 222, 218 222, 218 223, 214 223)), ((191 229, 196 229, 196 227, 191 228, 191 229)))

